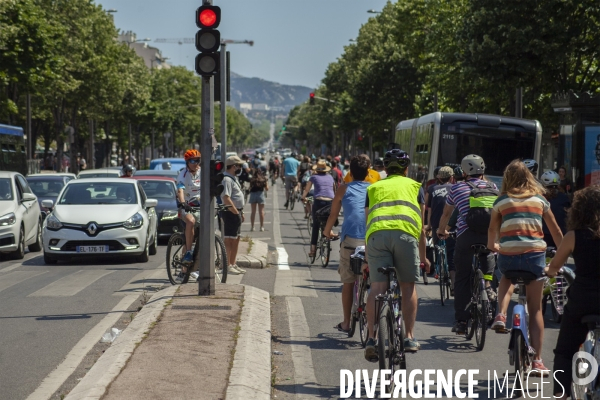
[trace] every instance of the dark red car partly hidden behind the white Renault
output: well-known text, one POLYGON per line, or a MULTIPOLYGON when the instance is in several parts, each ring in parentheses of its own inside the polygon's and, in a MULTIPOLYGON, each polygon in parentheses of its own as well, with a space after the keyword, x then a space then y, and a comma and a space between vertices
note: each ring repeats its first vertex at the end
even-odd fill
POLYGON ((134 176, 133 179, 142 185, 146 196, 158 201, 156 205, 158 238, 168 239, 173 232, 181 232, 175 181, 168 177, 156 176, 134 176))

